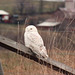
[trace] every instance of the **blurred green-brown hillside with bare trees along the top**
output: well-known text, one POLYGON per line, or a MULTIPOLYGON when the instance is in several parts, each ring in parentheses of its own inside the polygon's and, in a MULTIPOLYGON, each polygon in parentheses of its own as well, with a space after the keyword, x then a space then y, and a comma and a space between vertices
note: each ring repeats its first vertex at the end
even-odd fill
POLYGON ((58 7, 63 6, 63 2, 48 2, 43 0, 0 0, 0 10, 6 10, 10 14, 53 12, 58 7))

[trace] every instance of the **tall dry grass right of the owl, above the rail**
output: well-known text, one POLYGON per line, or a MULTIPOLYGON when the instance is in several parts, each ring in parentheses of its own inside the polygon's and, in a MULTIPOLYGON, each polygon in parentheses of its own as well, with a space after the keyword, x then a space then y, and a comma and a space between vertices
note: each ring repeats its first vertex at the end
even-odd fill
POLYGON ((41 31, 50 58, 75 69, 75 33, 41 31))

